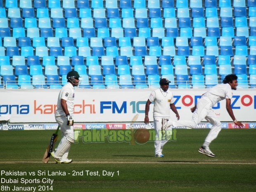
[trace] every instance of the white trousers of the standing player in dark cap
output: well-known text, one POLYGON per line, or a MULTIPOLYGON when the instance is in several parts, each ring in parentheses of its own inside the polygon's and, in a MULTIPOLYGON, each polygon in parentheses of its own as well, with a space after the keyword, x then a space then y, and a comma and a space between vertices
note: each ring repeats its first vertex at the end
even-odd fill
MULTIPOLYGON (((164 145, 169 141, 168 138, 165 137, 165 135, 162 135, 162 119, 163 118, 154 118, 154 127, 156 132, 156 137, 154 142, 155 155, 162 154, 162 149, 164 145)), ((172 127, 170 126, 168 130, 172 130, 172 127)))

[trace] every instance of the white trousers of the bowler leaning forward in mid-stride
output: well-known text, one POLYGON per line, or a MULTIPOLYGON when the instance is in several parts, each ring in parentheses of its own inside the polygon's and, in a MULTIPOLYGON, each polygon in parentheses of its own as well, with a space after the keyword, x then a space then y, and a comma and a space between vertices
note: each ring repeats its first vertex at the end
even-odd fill
POLYGON ((211 100, 209 100, 207 97, 202 97, 198 100, 197 107, 193 113, 191 121, 174 121, 173 126, 186 126, 189 128, 196 128, 197 124, 200 123, 203 119, 206 119, 206 121, 211 123, 213 126, 205 139, 206 142, 211 143, 220 133, 221 123, 212 110, 211 100))

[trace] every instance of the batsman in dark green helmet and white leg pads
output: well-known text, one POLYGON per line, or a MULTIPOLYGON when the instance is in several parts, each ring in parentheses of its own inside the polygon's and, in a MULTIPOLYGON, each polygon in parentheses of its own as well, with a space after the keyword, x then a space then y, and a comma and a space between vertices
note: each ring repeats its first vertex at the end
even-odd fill
POLYGON ((55 119, 61 128, 62 139, 55 151, 51 153, 59 164, 72 162, 72 159, 68 159, 68 154, 71 144, 75 141, 73 130, 74 87, 78 86, 79 77, 77 71, 70 71, 66 76, 68 83, 59 92, 55 119))

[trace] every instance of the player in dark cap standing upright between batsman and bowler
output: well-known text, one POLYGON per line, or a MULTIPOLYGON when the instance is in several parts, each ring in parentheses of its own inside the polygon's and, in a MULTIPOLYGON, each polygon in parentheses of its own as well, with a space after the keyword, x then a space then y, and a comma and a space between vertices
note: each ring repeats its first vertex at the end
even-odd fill
POLYGON ((144 123, 149 123, 149 105, 154 102, 153 117, 154 117, 154 128, 156 132, 156 138, 154 142, 155 147, 155 157, 164 157, 162 154, 162 149, 168 138, 164 136, 166 130, 172 130, 171 126, 168 126, 168 120, 170 119, 170 108, 176 114, 177 119, 180 119, 178 111, 173 104, 173 93, 168 90, 169 81, 166 78, 160 80, 160 88, 154 90, 150 95, 145 107, 145 119, 144 123), (163 134, 162 134, 163 133, 163 134), (164 136, 164 138, 162 138, 164 136))

